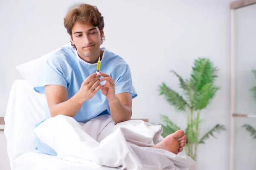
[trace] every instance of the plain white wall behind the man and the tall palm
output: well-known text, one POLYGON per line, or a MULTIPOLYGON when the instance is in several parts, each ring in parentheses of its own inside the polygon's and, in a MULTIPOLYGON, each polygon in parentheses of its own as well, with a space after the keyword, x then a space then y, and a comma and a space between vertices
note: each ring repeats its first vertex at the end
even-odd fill
MULTIPOLYGON (((79 2, 78 0, 73 2, 79 2)), ((84 2, 84 1, 80 1, 84 2)), ((178 90, 171 69, 188 78, 196 57, 210 57, 220 71, 221 91, 202 113, 202 133, 217 123, 229 127, 230 104, 230 0, 87 0, 105 17, 103 46, 130 65, 139 94, 133 118, 160 123, 168 115, 185 128, 182 113, 158 96, 161 82, 178 90)), ((0 1, 0 116, 4 116, 9 91, 21 75, 15 65, 38 58, 69 42, 63 18, 69 0, 0 1)), ((179 90, 178 90, 179 91, 179 90)), ((228 133, 217 135, 198 148, 198 170, 227 170, 228 133), (218 163, 217 163, 218 162, 218 163)))

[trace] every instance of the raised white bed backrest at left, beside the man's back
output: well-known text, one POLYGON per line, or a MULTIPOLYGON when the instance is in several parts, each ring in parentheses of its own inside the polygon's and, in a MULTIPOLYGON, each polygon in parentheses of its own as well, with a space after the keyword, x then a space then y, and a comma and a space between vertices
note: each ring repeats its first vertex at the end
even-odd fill
POLYGON ((35 124, 44 119, 46 107, 45 95, 35 92, 26 80, 13 82, 4 117, 11 166, 21 154, 35 151, 35 124))

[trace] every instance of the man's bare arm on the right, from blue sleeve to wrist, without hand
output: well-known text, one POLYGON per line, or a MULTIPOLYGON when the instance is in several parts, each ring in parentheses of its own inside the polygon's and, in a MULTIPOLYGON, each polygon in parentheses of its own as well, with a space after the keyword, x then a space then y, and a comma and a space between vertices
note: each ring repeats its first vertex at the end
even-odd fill
POLYGON ((119 123, 131 119, 132 98, 130 93, 117 94, 113 100, 108 102, 114 122, 119 123))

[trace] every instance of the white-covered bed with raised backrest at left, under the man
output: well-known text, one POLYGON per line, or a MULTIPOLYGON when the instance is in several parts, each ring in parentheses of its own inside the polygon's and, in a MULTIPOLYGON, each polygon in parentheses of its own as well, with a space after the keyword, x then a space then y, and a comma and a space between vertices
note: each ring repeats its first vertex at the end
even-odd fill
POLYGON ((34 127, 44 118, 45 96, 36 93, 26 80, 15 80, 5 120, 7 153, 12 170, 113 170, 88 161, 80 164, 39 154, 33 147, 34 127))

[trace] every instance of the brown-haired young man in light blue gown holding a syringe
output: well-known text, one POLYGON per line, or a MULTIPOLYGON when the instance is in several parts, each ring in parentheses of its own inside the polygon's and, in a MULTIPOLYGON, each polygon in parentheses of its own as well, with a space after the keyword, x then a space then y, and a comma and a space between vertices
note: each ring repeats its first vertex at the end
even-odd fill
MULTIPOLYGON (((111 115, 115 123, 130 120, 132 99, 137 93, 128 64, 100 48, 105 40, 101 13, 95 6, 81 4, 67 14, 64 26, 72 46, 61 48, 47 59, 34 88, 47 97, 49 113, 44 120, 59 114, 84 123, 103 114, 111 115), (99 58, 102 72, 97 76, 99 58)), ((153 147, 177 154, 185 143, 183 130, 178 130, 153 147)), ((38 138, 35 144, 40 153, 56 155, 38 138)))

